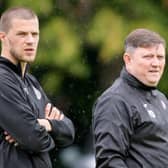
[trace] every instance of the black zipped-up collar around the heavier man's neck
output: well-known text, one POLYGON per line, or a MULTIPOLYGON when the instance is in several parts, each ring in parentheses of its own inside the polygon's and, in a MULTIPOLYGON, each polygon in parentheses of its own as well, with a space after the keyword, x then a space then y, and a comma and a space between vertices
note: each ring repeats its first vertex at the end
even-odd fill
POLYGON ((142 82, 140 82, 137 78, 135 78, 133 75, 131 75, 125 67, 123 67, 121 74, 121 78, 123 78, 129 85, 140 88, 143 90, 154 90, 156 87, 146 86, 142 82))

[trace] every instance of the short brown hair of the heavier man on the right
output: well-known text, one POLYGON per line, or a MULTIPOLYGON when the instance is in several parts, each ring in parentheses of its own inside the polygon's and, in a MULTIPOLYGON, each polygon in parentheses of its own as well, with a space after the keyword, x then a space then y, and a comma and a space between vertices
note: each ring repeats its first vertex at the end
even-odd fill
POLYGON ((163 44, 166 47, 166 42, 158 33, 148 29, 135 29, 125 39, 125 50, 128 48, 150 47, 155 44, 163 44))

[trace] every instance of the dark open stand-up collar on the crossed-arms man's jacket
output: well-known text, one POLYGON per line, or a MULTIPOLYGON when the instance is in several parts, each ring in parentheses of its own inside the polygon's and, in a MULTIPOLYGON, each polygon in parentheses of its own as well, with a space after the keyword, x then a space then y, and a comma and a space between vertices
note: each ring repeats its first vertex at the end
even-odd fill
MULTIPOLYGON (((5 58, 3 56, 0 56, 0 64, 3 64, 5 66, 9 67, 12 71, 14 71, 16 74, 18 74, 22 78, 22 72, 21 72, 20 63, 18 65, 15 65, 11 61, 9 61, 7 58, 5 58)), ((26 66, 25 74, 28 71, 28 67, 29 67, 29 65, 26 66)), ((24 76, 25 76, 25 74, 24 74, 24 76)))

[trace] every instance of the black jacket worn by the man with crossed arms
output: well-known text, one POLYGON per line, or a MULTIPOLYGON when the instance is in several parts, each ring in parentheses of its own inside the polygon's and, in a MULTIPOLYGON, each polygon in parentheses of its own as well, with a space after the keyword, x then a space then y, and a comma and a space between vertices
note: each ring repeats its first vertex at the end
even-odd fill
POLYGON ((49 151, 72 143, 74 127, 65 117, 52 120, 52 132, 40 126, 49 102, 37 80, 0 57, 0 168, 51 168, 49 151), (4 139, 7 131, 18 146, 4 139))

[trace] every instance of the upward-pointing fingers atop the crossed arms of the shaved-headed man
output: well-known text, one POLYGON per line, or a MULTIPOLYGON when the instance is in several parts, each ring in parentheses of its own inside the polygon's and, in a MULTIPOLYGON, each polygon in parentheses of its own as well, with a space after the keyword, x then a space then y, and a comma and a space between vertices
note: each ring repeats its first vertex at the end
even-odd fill
POLYGON ((64 118, 64 114, 61 113, 55 106, 52 107, 51 103, 48 103, 45 108, 45 118, 49 120, 62 120, 64 118))

